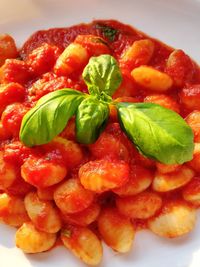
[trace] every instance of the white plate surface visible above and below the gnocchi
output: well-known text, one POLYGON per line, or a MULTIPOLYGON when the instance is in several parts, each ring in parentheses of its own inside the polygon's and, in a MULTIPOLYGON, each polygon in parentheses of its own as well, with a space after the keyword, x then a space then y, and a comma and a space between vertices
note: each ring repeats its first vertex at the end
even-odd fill
MULTIPOLYGON (((176 48, 200 62, 199 0, 0 0, 0 32, 21 45, 35 30, 63 27, 92 19, 118 19, 176 48)), ((15 230, 0 225, 1 267, 82 267, 66 249, 27 256, 14 245, 15 230)), ((199 267, 200 216, 195 230, 167 240, 149 231, 138 232, 134 248, 119 255, 104 246, 101 267, 199 267)))

